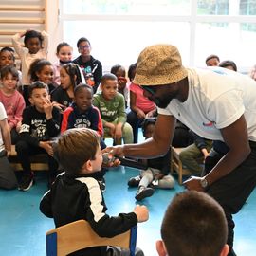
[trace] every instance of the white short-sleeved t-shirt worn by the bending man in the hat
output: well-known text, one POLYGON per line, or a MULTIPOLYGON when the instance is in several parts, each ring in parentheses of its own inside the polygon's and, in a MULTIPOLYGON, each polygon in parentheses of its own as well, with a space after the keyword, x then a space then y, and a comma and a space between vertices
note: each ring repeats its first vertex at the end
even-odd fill
MULTIPOLYGON (((256 82, 226 68, 188 68, 189 95, 180 102, 172 100, 162 115, 173 115, 194 133, 222 140, 220 130, 243 114, 249 140, 256 141, 256 82)), ((237 135, 239 136, 239 135, 237 135)))

